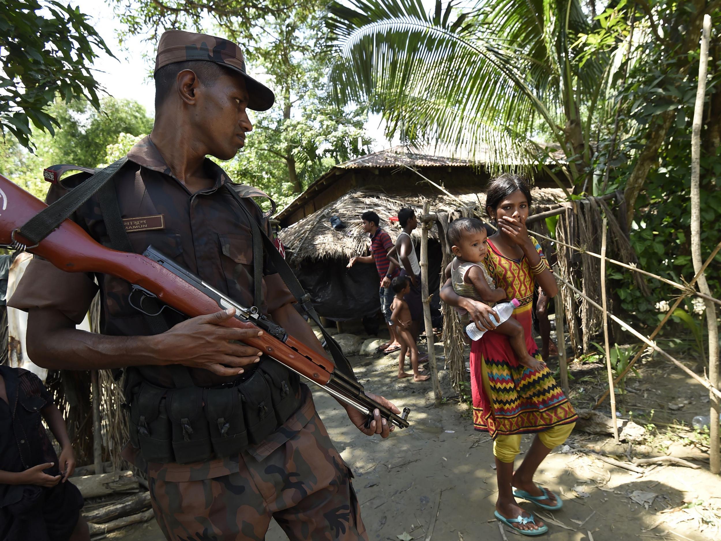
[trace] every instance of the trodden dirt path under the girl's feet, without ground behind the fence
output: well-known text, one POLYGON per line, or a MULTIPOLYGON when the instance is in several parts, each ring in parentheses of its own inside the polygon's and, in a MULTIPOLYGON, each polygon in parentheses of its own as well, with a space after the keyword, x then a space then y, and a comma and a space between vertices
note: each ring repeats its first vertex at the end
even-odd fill
MULTIPOLYGON (((317 408, 337 449, 355 472, 354 485, 370 539, 424 539, 433 509, 438 505, 433 541, 501 540, 492 515, 496 492, 492 443, 487 435, 472 430, 466 406, 451 399, 441 408, 433 408, 430 382, 412 383, 408 379, 399 382, 394 377, 397 360, 392 356, 356 357, 353 364, 366 389, 412 410, 412 427, 397 430, 390 439, 381 441, 363 436, 350 426, 335 400, 314 392, 317 408)), ((446 396, 454 395, 446 382, 446 372, 441 372, 441 379, 446 396)), ((683 388, 683 392, 689 388, 685 378, 669 383, 676 389, 683 388)), ((665 395, 661 400, 676 398, 665 395)), ((608 446, 608 441, 601 436, 574 432, 567 443, 570 447, 593 448, 608 446)), ((522 452, 529 444, 530 438, 524 438, 522 452)), ((681 448, 680 454, 674 448, 674 454, 692 456, 690 452, 684 454, 683 449, 689 447, 681 448)), ((541 538, 558 541, 720 538, 717 521, 721 513, 709 515, 709 507, 717 510, 721 506, 721 480, 709 473, 707 466, 701 470, 655 467, 645 475, 637 475, 585 454, 558 451, 541 465, 537 480, 562 495, 565 506, 554 513, 554 519, 565 527, 549 524, 549 534, 541 538), (639 492, 634 495, 634 491, 639 492), (630 497, 643 501, 644 497, 651 497, 648 493, 656 495, 648 509, 630 497), (668 512, 684 502, 692 503, 691 508, 668 512), (694 503, 697 505, 693 506, 694 503), (664 509, 667 512, 659 514, 664 509), (715 524, 704 523, 702 516, 710 516, 715 524), (660 519, 666 522, 645 531, 660 523, 660 519)), ((535 512, 531 503, 523 503, 523 507, 535 512)), ((519 538, 509 531, 506 535, 511 540, 519 538)), ((162 539, 154 522, 112 537, 162 539)), ((283 532, 273 523, 267 541, 284 539, 283 532)))

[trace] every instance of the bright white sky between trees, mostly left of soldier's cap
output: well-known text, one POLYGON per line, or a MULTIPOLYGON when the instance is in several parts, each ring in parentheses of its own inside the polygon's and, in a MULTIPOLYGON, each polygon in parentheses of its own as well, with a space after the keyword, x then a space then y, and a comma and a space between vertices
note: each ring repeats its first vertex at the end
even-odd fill
MULTIPOLYGON (((69 3, 79 6, 81 12, 91 17, 91 24, 118 58, 115 60, 105 53, 98 58, 94 65, 98 82, 113 97, 136 100, 152 114, 155 97, 155 87, 151 79, 155 61, 154 44, 143 41, 142 36, 134 36, 126 40, 121 48, 116 35, 120 23, 114 16, 112 7, 102 0, 71 0, 69 3)), ((252 66, 249 68, 252 74, 252 66)), ((379 115, 373 115, 366 123, 368 135, 376 140, 373 150, 391 145, 384 138, 380 123, 379 115)), ((397 144, 397 141, 393 141, 393 144, 397 144)))

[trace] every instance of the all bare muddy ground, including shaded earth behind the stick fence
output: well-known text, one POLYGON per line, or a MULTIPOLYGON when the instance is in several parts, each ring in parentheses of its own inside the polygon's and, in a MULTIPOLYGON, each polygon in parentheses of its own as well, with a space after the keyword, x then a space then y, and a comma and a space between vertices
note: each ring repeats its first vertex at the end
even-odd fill
MULTIPOLYGON (((438 350, 439 353, 441 350, 438 350)), ((496 498, 492 442, 473 431, 469 411, 441 370, 440 408, 433 406, 430 382, 399 381, 395 356, 355 357, 353 364, 366 389, 412 410, 411 428, 397 430, 388 440, 368 438, 348 423, 331 397, 314 392, 317 408, 342 457, 355 472, 355 490, 371 540, 425 539, 433 524, 433 541, 502 540, 493 519, 496 498)), ((553 365, 551 361, 549 365, 553 365)), ((439 363, 443 369, 443 360, 439 363)), ((593 365, 572 366, 571 398, 577 408, 601 394, 606 377, 593 365)), ((627 444, 606 436, 575 431, 541 465, 536 480, 561 495, 565 506, 543 517, 558 541, 718 540, 721 538, 721 478, 708 471, 703 437, 678 428, 699 413, 707 415, 708 399, 671 364, 648 360, 640 377, 629 380, 617 410, 647 427, 632 456, 684 457, 699 470, 674 465, 647 466, 637 474, 608 465, 574 449, 616 453, 627 460, 627 444), (655 427, 649 423, 655 423, 655 427), (672 425, 672 426, 668 426, 672 425), (673 426, 677 425, 677 426, 673 426), (634 501, 635 500, 635 501, 634 501), (645 503, 644 503, 645 502, 645 503)), ((606 412, 609 409, 606 407, 606 412)), ((522 452, 530 437, 523 439, 522 452)), ((523 454, 519 460, 523 458, 523 454)), ((522 506, 539 514, 531 503, 522 506)), ((518 539, 505 528, 509 539, 518 539)), ((161 540, 154 521, 113 532, 127 541, 161 540)), ((273 523, 268 541, 286 539, 273 523)))

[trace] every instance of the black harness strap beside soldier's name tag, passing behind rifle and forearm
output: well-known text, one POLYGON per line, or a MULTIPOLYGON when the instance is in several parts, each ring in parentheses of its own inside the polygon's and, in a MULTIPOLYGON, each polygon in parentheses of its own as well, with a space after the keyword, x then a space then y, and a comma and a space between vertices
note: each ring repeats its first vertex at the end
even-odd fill
MULTIPOLYGON (((87 182, 87 181, 86 181, 87 182)), ((77 190, 78 188, 75 188, 77 190)), ((73 190, 73 191, 75 191, 73 190)), ((118 193, 115 191, 115 182, 106 182, 98 194, 100 203, 100 211, 102 219, 107 229, 107 236, 110 237, 110 244, 113 249, 122 252, 133 252, 133 245, 128 239, 128 232, 125 231, 123 225, 123 215, 120 214, 120 206, 118 205, 118 193)), ((160 315, 160 309, 155 299, 145 299, 144 305, 156 315, 151 316, 143 314, 146 325, 150 327, 151 333, 159 335, 168 330, 168 324, 160 315)), ((180 364, 172 364, 168 366, 173 383, 178 389, 182 387, 193 387, 193 379, 190 377, 190 371, 187 366, 180 364)))

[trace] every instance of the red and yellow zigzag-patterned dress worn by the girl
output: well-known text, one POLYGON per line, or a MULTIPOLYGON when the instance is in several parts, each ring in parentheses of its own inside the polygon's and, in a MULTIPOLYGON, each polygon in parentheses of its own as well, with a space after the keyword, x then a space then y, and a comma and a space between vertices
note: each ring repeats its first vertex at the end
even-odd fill
MULTIPOLYGON (((539 243, 531 237, 541 258, 539 243)), ((488 240, 484 260, 496 287, 505 289, 508 297, 516 297, 521 305, 513 317, 521 322, 526 333, 528 353, 541 359, 531 332, 531 309, 536 283, 528 261, 513 260, 501 255, 488 240)), ((497 435, 541 432, 552 426, 573 423, 577 415, 556 384, 551 371, 534 371, 518 364, 508 337, 489 331, 473 342, 471 348, 471 389, 473 425, 476 430, 497 435)))

